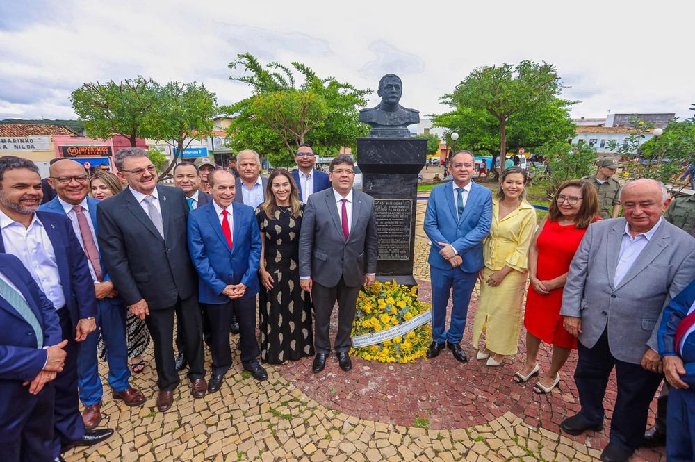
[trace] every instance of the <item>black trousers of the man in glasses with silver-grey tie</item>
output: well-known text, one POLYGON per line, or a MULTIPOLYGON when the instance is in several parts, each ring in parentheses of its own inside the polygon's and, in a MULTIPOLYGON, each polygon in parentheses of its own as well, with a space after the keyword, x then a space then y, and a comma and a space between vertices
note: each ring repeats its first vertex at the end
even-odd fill
POLYGON ((154 345, 154 364, 157 386, 160 390, 174 390, 179 385, 179 374, 174 365, 174 312, 181 317, 183 352, 188 360, 188 379, 205 377, 205 358, 202 340, 202 317, 197 295, 179 299, 176 305, 162 310, 150 310, 145 317, 147 329, 154 345))

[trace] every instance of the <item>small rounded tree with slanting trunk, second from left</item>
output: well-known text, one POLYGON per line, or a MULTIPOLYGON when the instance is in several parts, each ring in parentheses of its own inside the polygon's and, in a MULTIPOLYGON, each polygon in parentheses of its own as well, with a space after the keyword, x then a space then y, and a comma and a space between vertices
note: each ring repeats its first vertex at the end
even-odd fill
POLYGON ((152 133, 151 138, 163 140, 173 148, 174 157, 161 173, 165 177, 193 140, 212 135, 213 118, 218 113, 217 97, 202 83, 170 82, 159 88, 156 101, 146 128, 152 133))

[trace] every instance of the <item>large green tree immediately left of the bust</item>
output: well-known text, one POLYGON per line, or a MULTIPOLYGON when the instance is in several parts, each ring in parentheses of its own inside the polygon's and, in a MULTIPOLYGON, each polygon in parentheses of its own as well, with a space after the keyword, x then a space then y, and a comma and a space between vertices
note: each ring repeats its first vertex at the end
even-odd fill
MULTIPOLYGON (((231 145, 236 150, 255 149, 267 156, 273 165, 291 165, 299 137, 282 128, 280 124, 276 124, 274 129, 268 123, 268 117, 259 116, 256 109, 275 107, 277 116, 281 113, 278 108, 301 108, 302 104, 277 104, 278 101, 297 101, 300 99, 297 94, 313 94, 309 97, 312 101, 310 107, 314 108, 313 127, 304 133, 302 139, 313 146, 316 154, 335 154, 343 146, 352 147, 354 151, 355 138, 369 133, 370 127, 359 123, 357 118, 358 109, 366 106, 366 97, 371 90, 359 90, 350 83, 340 82, 334 77, 320 78, 302 63, 293 62, 287 66, 273 62, 262 65, 251 53, 238 55, 235 61, 229 63, 229 68, 233 71, 243 69, 245 74, 230 76, 229 79, 249 85, 252 93, 250 97, 222 108, 234 117, 229 126, 229 135, 231 145), (303 80, 301 84, 297 83, 295 75, 303 80), (293 96, 268 97, 268 94, 277 93, 293 96), (269 104, 269 99, 275 100, 276 104, 269 104), (318 120, 314 117, 323 111, 319 108, 322 104, 316 101, 321 99, 325 103, 326 112, 325 117, 318 120), (289 140, 289 143, 285 140, 289 140)), ((286 111, 284 113, 287 114, 286 111)), ((290 117, 295 122, 301 118, 301 114, 297 113, 290 117)))

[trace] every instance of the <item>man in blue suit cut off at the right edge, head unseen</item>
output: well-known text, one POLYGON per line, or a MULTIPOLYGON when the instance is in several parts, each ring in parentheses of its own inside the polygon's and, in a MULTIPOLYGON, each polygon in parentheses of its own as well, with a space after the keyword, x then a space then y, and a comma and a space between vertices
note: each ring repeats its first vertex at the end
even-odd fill
POLYGON ((695 279, 664 308, 659 354, 671 384, 667 405, 667 459, 695 460, 695 279))

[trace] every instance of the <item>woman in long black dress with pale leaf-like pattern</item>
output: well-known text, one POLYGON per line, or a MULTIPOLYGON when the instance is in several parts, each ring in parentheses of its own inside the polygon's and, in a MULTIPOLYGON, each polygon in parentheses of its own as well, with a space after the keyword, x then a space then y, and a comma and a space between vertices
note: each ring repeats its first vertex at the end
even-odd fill
POLYGON ((261 360, 271 364, 313 356, 311 295, 300 287, 299 240, 304 204, 285 169, 268 178, 265 202, 256 208, 261 230, 259 313, 261 360))

